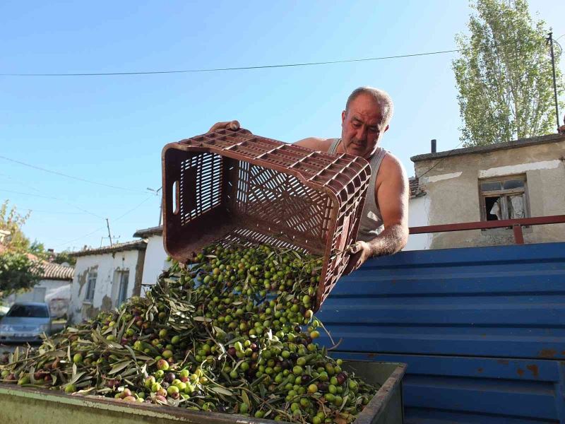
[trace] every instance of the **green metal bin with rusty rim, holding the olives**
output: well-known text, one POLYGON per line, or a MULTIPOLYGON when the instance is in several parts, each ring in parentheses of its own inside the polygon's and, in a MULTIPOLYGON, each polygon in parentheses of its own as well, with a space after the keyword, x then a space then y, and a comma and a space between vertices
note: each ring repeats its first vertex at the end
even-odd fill
MULTIPOLYGON (((388 420, 386 414, 402 417, 402 404, 395 404, 394 410, 387 406, 394 396, 401 398, 404 364, 352 360, 344 363, 344 369, 355 369, 359 375, 367 379, 367 382, 382 384, 381 389, 359 414, 357 423, 369 424, 381 420, 379 422, 402 424, 402 420, 388 420)), ((6 384, 0 384, 0 405, 0 423, 2 424, 283 423, 234 414, 188 411, 184 408, 168 406, 126 404, 113 399, 71 396, 57 391, 21 388, 6 384)))

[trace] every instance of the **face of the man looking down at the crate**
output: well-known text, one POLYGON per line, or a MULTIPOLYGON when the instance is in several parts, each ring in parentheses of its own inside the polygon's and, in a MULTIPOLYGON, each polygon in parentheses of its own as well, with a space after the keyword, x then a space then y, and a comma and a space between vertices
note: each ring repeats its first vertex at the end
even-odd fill
POLYGON ((345 153, 370 158, 381 135, 388 129, 381 123, 379 104, 367 94, 359 94, 341 113, 341 140, 345 153))

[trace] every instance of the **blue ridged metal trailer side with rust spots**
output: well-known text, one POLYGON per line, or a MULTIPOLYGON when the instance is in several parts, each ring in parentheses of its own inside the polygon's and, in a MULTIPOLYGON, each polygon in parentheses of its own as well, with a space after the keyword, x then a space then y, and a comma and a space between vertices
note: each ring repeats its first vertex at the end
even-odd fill
POLYGON ((408 364, 406 424, 565 424, 565 243, 371 259, 318 317, 340 357, 408 364))

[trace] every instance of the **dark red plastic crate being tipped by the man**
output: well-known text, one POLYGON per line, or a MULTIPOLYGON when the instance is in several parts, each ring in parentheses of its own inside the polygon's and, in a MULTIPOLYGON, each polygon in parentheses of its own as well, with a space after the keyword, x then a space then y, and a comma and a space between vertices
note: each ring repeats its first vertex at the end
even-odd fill
POLYGON ((165 250, 186 261, 212 242, 239 240, 322 256, 318 310, 347 266, 370 174, 363 158, 242 129, 169 143, 162 151, 165 250))

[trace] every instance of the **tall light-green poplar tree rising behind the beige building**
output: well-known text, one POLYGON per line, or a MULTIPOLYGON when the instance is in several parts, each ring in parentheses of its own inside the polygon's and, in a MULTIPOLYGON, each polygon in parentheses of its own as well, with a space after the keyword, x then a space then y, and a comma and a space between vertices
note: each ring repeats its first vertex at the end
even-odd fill
POLYGON ((456 36, 463 50, 453 61, 460 140, 483 146, 555 132, 545 22, 531 18, 527 0, 472 0, 471 6, 470 35, 456 36))

